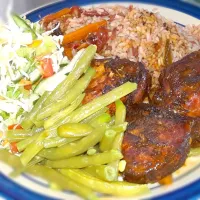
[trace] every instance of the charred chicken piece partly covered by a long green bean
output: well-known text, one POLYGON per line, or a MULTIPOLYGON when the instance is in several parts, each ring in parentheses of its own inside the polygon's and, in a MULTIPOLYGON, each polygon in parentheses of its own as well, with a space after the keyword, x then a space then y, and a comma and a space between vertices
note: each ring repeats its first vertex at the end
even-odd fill
MULTIPOLYGON (((96 70, 96 76, 85 91, 86 97, 83 103, 87 103, 127 81, 135 82, 138 85, 137 90, 123 99, 125 103, 139 103, 148 96, 151 76, 142 63, 115 58, 94 60, 92 67, 96 70)), ((114 107, 110 107, 110 110, 113 113, 114 107)))

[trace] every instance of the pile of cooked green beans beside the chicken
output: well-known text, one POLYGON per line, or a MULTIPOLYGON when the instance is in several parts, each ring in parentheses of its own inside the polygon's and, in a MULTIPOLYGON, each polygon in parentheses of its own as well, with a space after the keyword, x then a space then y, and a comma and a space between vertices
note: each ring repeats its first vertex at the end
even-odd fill
POLYGON ((146 193, 146 185, 118 181, 127 127, 120 98, 137 85, 126 82, 82 105, 85 89, 95 76, 90 67, 95 53, 94 45, 83 51, 67 78, 53 92, 45 92, 24 115, 23 130, 7 131, 7 139, 17 142, 20 157, 2 150, 0 159, 15 168, 12 176, 30 173, 88 200, 98 199, 95 192, 116 196, 146 193), (114 102, 116 113, 111 116, 107 106, 114 102))

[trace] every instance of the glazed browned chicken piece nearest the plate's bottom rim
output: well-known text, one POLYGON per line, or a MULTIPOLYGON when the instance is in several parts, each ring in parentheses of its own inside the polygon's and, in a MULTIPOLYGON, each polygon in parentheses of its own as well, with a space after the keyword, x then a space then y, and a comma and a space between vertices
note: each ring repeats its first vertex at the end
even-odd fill
POLYGON ((127 108, 122 144, 124 179, 154 183, 180 168, 190 149, 190 125, 183 117, 149 104, 127 108))

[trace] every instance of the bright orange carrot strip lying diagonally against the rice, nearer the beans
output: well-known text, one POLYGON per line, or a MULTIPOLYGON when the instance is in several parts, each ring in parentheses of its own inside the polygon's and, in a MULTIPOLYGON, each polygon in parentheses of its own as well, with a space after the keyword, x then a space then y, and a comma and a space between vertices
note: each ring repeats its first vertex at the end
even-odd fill
POLYGON ((83 40, 88 36, 89 33, 97 32, 101 26, 105 26, 105 25, 107 25, 107 21, 103 20, 103 21, 96 22, 93 24, 88 24, 74 32, 68 33, 64 35, 63 45, 66 45, 74 41, 83 40))

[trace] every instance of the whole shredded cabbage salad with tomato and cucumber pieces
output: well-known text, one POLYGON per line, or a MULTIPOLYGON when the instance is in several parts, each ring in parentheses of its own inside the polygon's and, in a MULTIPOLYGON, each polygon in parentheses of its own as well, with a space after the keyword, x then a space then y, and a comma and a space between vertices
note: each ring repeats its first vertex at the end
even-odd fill
POLYGON ((60 45, 63 36, 51 36, 53 31, 44 32, 39 23, 15 14, 8 25, 0 24, 0 131, 19 124, 40 95, 52 91, 71 71, 60 45))

